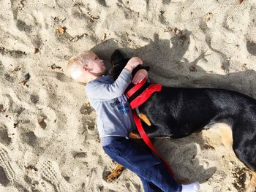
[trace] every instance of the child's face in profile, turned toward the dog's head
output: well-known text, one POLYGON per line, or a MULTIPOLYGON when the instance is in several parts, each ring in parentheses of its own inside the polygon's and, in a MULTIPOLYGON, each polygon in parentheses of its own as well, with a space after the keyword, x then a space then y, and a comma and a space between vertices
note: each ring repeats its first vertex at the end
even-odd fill
POLYGON ((102 59, 99 59, 99 57, 95 55, 95 53, 90 52, 89 55, 86 57, 86 61, 88 72, 90 72, 91 74, 101 76, 105 73, 105 64, 103 63, 102 59))

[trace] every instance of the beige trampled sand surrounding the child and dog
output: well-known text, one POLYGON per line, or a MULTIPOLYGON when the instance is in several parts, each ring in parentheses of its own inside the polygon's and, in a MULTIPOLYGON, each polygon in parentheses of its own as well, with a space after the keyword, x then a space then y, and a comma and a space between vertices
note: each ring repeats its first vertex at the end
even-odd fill
MULTIPOLYGON (((1 0, 0 191, 143 191, 102 150, 84 85, 67 61, 94 50, 137 55, 153 82, 238 91, 256 99, 254 0, 1 0), (175 29, 176 28, 176 29, 175 29)), ((250 173, 222 145, 217 124, 156 139, 177 180, 200 191, 244 191, 250 173)))

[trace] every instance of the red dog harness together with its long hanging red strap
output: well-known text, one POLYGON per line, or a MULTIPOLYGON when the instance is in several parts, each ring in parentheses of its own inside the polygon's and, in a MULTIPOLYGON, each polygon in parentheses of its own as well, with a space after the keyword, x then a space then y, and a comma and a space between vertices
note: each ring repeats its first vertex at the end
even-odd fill
MULTIPOLYGON (((146 80, 143 80, 142 82, 136 84, 133 88, 131 88, 127 93, 127 97, 130 98, 135 92, 137 92, 144 84, 146 80)), ((171 175, 173 175, 173 171, 170 169, 169 164, 165 161, 164 158, 157 153, 157 150, 154 148, 154 145, 152 144, 151 140, 148 138, 146 132, 143 129, 143 126, 141 124, 140 118, 138 117, 138 114, 135 112, 135 108, 139 107, 141 104, 143 104, 148 98, 154 93, 159 92, 162 90, 162 85, 159 84, 151 84, 146 88, 143 93, 140 93, 139 96, 137 96, 134 100, 130 102, 130 106, 133 110, 132 115, 135 120, 135 124, 138 128, 138 131, 140 133, 140 136, 142 137, 143 141, 146 142, 146 145, 164 162, 165 166, 167 167, 168 172, 170 172, 171 175)))

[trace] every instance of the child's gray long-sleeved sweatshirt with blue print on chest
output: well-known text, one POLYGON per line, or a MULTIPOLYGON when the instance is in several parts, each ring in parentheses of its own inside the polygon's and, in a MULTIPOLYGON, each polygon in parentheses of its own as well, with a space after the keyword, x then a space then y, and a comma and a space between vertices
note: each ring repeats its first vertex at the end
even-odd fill
POLYGON ((86 84, 86 95, 97 114, 97 128, 102 145, 110 137, 128 137, 135 128, 132 110, 124 91, 132 81, 132 74, 123 69, 116 81, 109 74, 86 84))

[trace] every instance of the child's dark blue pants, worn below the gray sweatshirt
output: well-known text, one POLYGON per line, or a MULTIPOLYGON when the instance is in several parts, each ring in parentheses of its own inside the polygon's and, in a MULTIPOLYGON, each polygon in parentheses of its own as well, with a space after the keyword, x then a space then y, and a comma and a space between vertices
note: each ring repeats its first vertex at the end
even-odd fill
POLYGON ((165 164, 148 147, 125 137, 113 138, 109 145, 103 146, 103 150, 118 164, 137 174, 144 191, 181 191, 181 185, 173 179, 165 164))

